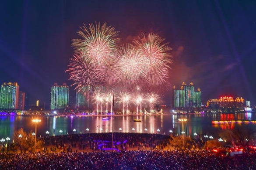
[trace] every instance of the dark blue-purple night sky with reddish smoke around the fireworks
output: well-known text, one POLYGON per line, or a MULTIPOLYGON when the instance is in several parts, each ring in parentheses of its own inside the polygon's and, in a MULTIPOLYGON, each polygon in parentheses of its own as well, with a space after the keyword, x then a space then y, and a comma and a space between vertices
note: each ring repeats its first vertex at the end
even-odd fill
POLYGON ((18 82, 30 104, 49 105, 53 83, 73 83, 65 72, 71 40, 95 21, 115 27, 123 43, 141 32, 166 39, 173 48, 166 104, 182 82, 201 89, 204 105, 224 95, 256 104, 253 0, 1 0, 0 84, 18 82))

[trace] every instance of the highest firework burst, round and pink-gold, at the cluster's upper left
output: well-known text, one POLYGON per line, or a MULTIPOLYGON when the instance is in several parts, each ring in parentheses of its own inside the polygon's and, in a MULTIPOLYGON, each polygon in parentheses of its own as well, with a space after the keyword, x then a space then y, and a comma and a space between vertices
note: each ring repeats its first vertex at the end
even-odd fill
POLYGON ((80 27, 77 34, 82 39, 74 39, 72 46, 76 54, 85 54, 85 60, 91 64, 109 66, 115 55, 116 44, 119 42, 118 31, 107 24, 89 24, 80 27))

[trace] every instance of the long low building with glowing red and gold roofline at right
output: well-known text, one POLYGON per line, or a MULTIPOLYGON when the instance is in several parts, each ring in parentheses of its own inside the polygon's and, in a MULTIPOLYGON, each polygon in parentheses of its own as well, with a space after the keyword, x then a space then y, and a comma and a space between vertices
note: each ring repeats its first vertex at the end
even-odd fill
POLYGON ((233 99, 233 97, 221 97, 220 99, 210 99, 207 106, 210 108, 242 108, 245 100, 241 98, 233 99))

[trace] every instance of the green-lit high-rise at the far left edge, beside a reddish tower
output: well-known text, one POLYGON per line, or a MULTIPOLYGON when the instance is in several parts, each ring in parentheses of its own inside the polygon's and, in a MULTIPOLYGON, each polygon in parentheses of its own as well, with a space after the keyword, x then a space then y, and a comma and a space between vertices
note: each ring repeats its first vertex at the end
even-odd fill
POLYGON ((18 109, 19 85, 3 83, 0 92, 0 109, 18 109))

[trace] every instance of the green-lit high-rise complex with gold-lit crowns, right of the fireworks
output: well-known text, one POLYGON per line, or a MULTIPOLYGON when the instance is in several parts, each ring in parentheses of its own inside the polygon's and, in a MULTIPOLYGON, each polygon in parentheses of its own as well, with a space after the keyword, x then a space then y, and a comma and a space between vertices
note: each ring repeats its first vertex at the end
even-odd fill
POLYGON ((186 85, 185 82, 182 83, 180 90, 177 90, 173 86, 173 106, 177 108, 195 108, 201 107, 201 91, 198 88, 196 91, 194 89, 193 83, 186 85))

